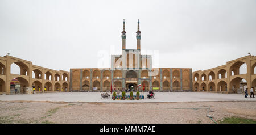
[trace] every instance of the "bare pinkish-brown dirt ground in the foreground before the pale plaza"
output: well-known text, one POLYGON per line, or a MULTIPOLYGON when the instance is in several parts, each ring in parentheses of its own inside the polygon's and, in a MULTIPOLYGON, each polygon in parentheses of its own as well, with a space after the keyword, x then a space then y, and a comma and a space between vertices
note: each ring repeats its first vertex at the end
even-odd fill
POLYGON ((0 123, 213 123, 256 120, 256 102, 84 103, 0 102, 0 123), (209 110, 210 107, 210 110, 209 110))

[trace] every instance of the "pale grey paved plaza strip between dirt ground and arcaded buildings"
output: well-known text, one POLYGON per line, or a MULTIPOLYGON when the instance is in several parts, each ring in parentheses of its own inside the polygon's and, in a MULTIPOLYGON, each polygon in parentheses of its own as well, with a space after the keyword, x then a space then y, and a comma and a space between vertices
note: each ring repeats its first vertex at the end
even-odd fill
MULTIPOLYGON (((110 94, 110 93, 109 93, 110 94)), ((134 92, 134 95, 136 93, 134 92)), ((147 96, 148 92, 141 92, 147 96)), ((127 92, 126 95, 129 95, 127 92)), ((54 92, 23 95, 0 95, 0 101, 49 101, 49 102, 104 102, 104 103, 154 103, 154 102, 214 102, 214 101, 256 101, 244 94, 221 94, 208 92, 155 92, 155 99, 113 100, 101 99, 101 92, 54 92)))

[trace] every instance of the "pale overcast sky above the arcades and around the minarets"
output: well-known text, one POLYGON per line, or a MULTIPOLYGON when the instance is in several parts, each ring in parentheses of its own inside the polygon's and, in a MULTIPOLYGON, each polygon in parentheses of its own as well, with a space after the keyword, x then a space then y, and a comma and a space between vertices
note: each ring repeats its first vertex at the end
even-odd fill
POLYGON ((153 68, 206 70, 256 55, 255 0, 0 0, 0 56, 69 71, 98 68, 103 52, 108 67, 101 68, 110 68, 110 54, 121 54, 123 19, 127 49, 137 47, 139 19, 153 68))

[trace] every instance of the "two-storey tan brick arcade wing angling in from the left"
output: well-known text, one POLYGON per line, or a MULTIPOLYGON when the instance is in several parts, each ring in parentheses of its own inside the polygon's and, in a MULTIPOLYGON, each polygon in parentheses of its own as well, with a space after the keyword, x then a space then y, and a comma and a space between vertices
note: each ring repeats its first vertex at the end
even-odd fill
POLYGON ((12 94, 20 87, 33 87, 36 92, 69 91, 69 72, 32 65, 13 56, 0 57, 0 94, 12 94))

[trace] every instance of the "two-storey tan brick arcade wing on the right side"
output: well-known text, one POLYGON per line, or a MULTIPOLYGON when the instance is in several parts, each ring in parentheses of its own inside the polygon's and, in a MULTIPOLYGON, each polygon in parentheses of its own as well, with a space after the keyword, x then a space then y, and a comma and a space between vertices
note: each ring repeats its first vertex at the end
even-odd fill
POLYGON ((193 72, 193 91, 241 93, 256 87, 256 57, 245 56, 226 65, 193 72))

